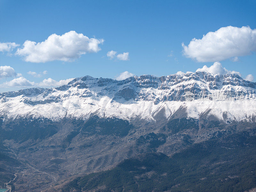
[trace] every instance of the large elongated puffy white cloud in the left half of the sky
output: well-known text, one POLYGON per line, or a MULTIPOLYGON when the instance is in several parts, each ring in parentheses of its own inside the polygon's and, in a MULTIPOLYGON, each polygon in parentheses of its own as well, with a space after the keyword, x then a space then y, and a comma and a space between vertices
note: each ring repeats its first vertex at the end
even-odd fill
POLYGON ((103 39, 89 38, 82 33, 69 31, 61 36, 52 34, 39 43, 27 40, 23 48, 17 50, 16 55, 34 63, 53 60, 72 61, 83 54, 100 51, 99 44, 103 42, 103 39))

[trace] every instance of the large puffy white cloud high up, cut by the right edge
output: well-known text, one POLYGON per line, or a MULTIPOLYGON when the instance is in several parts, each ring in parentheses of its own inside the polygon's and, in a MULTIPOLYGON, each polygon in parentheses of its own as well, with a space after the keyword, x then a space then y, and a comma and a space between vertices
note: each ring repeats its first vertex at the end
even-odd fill
POLYGON ((192 39, 188 46, 182 43, 183 53, 199 62, 215 62, 232 57, 250 55, 256 51, 256 29, 222 27, 208 32, 202 39, 192 39))

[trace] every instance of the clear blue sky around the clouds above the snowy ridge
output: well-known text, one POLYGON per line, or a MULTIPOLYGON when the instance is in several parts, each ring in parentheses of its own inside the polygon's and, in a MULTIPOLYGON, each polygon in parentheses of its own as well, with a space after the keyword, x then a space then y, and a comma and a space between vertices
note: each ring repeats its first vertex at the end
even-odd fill
MULTIPOLYGON (((247 53, 242 53, 244 56, 239 56, 239 52, 230 56, 233 50, 231 47, 227 53, 223 53, 224 59, 209 59, 210 56, 205 56, 205 53, 202 61, 198 59, 199 56, 195 56, 201 54, 200 50, 199 53, 194 52, 192 45, 190 51, 184 54, 183 42, 188 46, 193 38, 202 39, 208 32, 227 26, 249 26, 253 31, 256 28, 256 1, 1 0, 0 42, 12 42, 20 46, 0 53, 0 66, 10 66, 15 70, 15 75, 3 76, 0 84, 20 77, 34 82, 34 86, 48 78, 56 81, 85 75, 116 78, 124 71, 138 76, 163 76, 177 71, 195 72, 204 65, 210 67, 214 61, 220 61, 227 70, 239 72, 243 78, 248 74, 256 78, 255 48, 250 44, 255 43, 253 40, 248 40, 250 45, 243 45, 245 49, 249 47, 247 53), (24 54, 15 54, 17 48, 24 48, 26 40, 44 42, 52 34, 61 36, 69 31, 97 40, 104 39, 104 42, 98 44, 99 50, 69 61, 46 59, 45 62, 31 62, 29 59, 26 61, 24 54), (116 51, 113 59, 107 56, 111 50, 116 51), (118 59, 117 55, 124 52, 129 52, 129 57, 118 59), (29 71, 36 72, 34 76, 37 77, 28 74, 29 71)), ((225 28, 222 34, 230 32, 232 36, 232 33, 236 33, 232 30, 225 28)), ((245 36, 248 33, 245 32, 245 36)), ((237 41, 244 42, 241 39, 237 41)), ((218 44, 211 46, 213 52, 219 49, 218 44)), ((48 48, 51 52, 51 47, 48 48)), ((25 85, 2 85, 0 92, 19 90, 25 85)))

